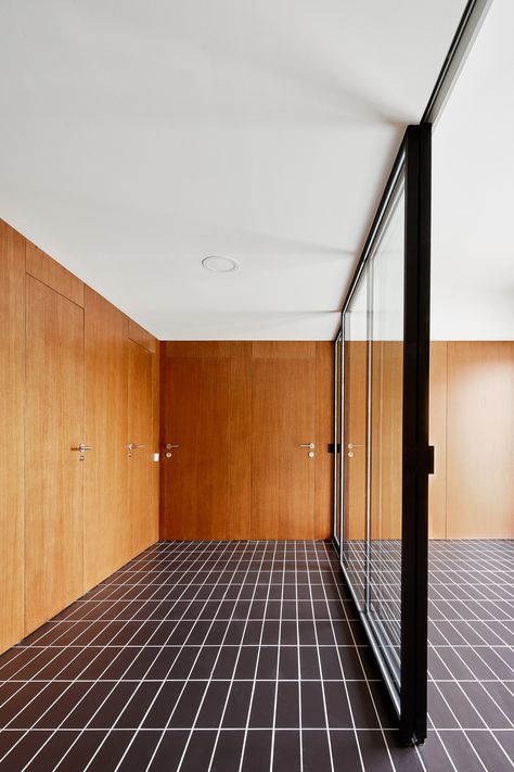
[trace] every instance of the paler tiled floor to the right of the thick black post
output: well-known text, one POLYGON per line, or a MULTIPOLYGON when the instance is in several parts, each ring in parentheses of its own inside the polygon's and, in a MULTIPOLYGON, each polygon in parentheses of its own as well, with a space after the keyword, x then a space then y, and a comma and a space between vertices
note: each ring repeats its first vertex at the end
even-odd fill
POLYGON ((426 748, 459 772, 514 768, 513 580, 512 540, 431 542, 426 748))

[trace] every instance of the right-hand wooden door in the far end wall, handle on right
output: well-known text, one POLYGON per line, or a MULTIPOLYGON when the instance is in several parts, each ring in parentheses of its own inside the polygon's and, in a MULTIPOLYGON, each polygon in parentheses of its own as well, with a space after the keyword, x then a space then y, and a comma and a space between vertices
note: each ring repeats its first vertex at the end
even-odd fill
POLYGON ((316 354, 293 356, 254 354, 253 539, 313 537, 316 453, 322 448, 309 457, 310 448, 300 445, 316 445, 316 354))

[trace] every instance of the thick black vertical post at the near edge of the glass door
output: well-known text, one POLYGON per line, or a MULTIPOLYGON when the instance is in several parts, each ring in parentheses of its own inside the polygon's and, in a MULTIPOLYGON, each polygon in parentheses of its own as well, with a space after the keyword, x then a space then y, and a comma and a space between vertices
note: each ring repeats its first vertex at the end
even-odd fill
POLYGON ((406 135, 400 737, 426 737, 432 126, 406 135))

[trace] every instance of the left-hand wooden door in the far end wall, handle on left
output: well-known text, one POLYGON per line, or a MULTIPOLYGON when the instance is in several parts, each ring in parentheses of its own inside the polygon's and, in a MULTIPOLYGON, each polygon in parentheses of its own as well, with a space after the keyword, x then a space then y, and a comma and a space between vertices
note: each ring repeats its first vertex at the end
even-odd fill
POLYGON ((164 368, 162 537, 229 539, 230 357, 165 357, 164 368))

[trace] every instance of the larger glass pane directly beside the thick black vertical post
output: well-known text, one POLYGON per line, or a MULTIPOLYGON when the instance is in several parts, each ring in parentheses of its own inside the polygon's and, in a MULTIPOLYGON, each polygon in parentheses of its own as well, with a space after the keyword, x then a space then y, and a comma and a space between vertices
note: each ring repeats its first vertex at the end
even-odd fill
POLYGON ((400 683, 404 199, 400 183, 370 261, 368 615, 400 683))

